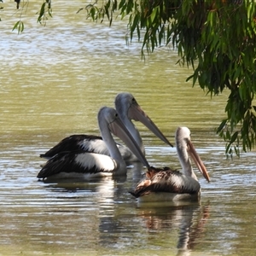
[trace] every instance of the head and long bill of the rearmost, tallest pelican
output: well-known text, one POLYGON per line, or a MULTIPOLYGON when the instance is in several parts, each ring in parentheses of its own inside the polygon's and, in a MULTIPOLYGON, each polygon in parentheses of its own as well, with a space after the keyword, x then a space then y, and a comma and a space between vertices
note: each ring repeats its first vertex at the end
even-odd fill
MULTIPOLYGON (((131 119, 135 121, 140 121, 148 127, 148 129, 154 132, 154 135, 159 137, 164 143, 172 146, 159 128, 154 124, 154 122, 148 117, 148 115, 143 111, 140 105, 137 103, 134 96, 128 92, 119 93, 115 98, 115 108, 120 115, 120 118, 125 123, 127 129, 131 132, 131 119), (127 119, 128 117, 128 119, 127 119), (128 124, 129 123, 129 124, 128 124)), ((134 128, 133 128, 134 129, 134 128)))

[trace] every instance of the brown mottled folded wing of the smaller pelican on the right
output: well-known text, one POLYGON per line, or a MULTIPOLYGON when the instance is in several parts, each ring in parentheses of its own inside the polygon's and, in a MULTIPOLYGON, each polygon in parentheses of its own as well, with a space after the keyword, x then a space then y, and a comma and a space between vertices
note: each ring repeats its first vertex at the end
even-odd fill
POLYGON ((177 194, 195 194, 200 190, 200 184, 192 177, 183 175, 182 172, 172 171, 170 169, 150 168, 147 172, 148 179, 137 184, 131 195, 140 197, 152 192, 167 192, 177 194))

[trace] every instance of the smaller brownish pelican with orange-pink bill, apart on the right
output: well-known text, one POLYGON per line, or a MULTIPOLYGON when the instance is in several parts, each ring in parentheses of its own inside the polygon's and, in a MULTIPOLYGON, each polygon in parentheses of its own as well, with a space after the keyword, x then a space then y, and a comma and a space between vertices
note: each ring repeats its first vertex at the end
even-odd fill
POLYGON ((201 186, 195 176, 189 156, 195 161, 202 175, 210 182, 207 169, 196 153, 190 139, 187 127, 178 127, 176 131, 177 155, 182 166, 182 172, 150 167, 146 172, 146 179, 137 184, 131 195, 138 201, 180 201, 200 199, 201 186))

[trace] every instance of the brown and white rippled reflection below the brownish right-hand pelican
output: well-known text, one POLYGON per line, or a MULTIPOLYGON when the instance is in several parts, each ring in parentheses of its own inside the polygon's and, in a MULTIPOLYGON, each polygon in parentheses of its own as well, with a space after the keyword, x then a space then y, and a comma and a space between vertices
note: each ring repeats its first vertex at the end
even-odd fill
MULTIPOLYGON (((206 230, 209 216, 210 206, 208 204, 201 206, 199 202, 188 202, 180 207, 162 207, 162 205, 153 207, 147 205, 147 207, 137 209, 139 223, 143 223, 144 227, 151 231, 151 234, 157 234, 159 230, 161 233, 168 230, 167 234, 170 235, 168 237, 166 234, 166 242, 170 240, 170 244, 172 244, 173 234, 176 234, 179 230, 178 237, 175 239, 177 241, 176 255, 179 256, 189 256, 191 252, 193 255, 197 255, 193 252, 193 249, 195 246, 201 247, 201 237, 203 237, 206 230)), ((151 241, 151 243, 154 243, 154 241, 151 241)))

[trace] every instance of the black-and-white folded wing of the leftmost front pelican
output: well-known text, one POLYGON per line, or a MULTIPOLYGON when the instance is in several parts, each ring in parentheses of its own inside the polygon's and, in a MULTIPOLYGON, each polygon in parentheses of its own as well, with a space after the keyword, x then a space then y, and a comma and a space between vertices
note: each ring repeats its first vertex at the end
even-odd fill
MULTIPOLYGON (((42 170, 38 173, 38 178, 50 177, 60 173, 113 173, 117 168, 117 163, 108 155, 94 154, 84 151, 56 154, 48 160, 42 170)), ((102 175, 101 175, 102 176, 102 175)))

